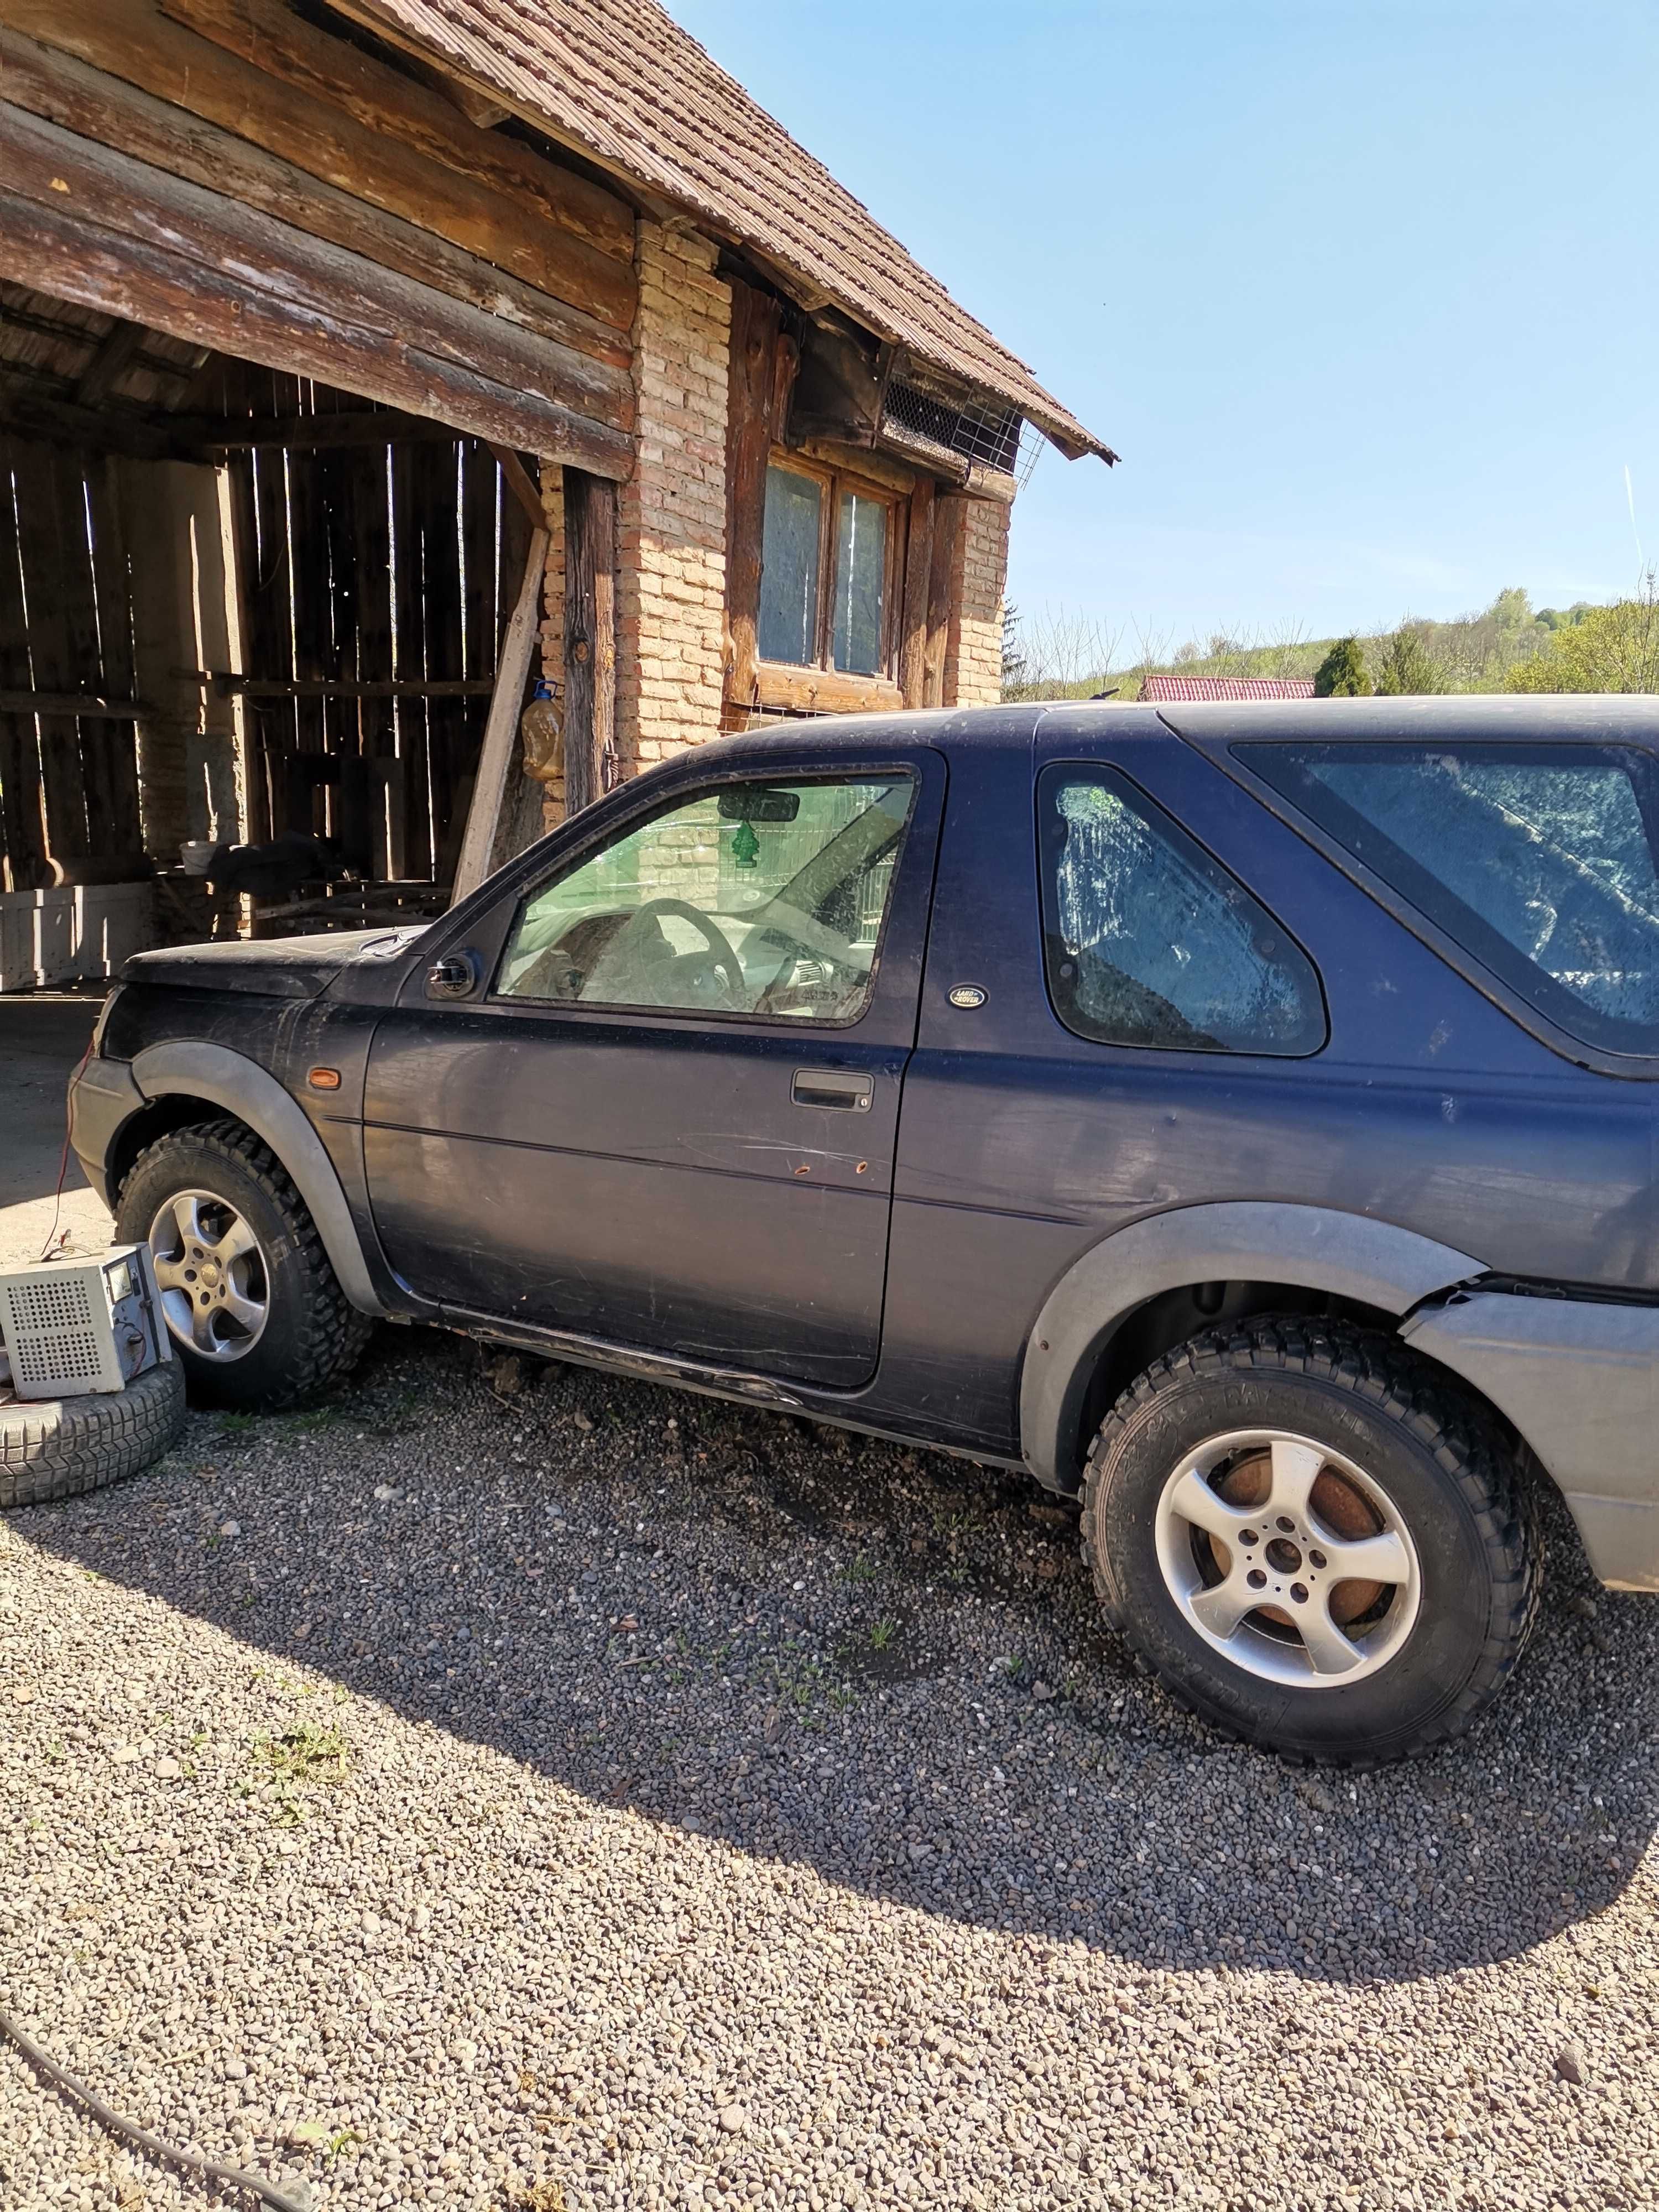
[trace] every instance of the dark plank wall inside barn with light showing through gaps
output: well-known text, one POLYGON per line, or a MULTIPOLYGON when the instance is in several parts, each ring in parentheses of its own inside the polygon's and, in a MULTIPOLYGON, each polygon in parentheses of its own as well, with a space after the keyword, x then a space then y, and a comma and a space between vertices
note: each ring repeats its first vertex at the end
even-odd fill
MULTIPOLYGON (((230 425, 363 420, 347 394, 237 361, 217 398, 230 425)), ((246 675, 294 688, 246 695, 250 838, 316 832, 354 874, 447 883, 524 571, 524 509, 473 438, 261 445, 232 456, 230 480, 246 675), (327 697, 321 684, 447 690, 327 697)))

